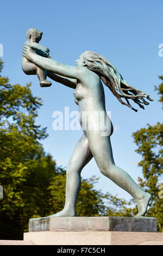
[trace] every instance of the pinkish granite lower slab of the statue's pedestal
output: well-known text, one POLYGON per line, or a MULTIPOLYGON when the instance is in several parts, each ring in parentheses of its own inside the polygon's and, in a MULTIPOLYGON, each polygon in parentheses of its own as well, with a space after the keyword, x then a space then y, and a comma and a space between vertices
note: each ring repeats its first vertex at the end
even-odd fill
POLYGON ((162 233, 122 231, 37 231, 24 233, 24 241, 35 245, 139 245, 161 243, 162 233))

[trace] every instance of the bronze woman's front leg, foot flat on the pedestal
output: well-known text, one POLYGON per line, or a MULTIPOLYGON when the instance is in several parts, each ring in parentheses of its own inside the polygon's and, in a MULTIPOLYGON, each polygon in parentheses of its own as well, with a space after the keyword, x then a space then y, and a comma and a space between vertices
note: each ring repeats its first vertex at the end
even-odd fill
POLYGON ((92 159, 92 153, 89 147, 87 137, 83 135, 68 162, 66 171, 66 198, 64 209, 52 216, 72 217, 76 215, 76 203, 80 190, 80 173, 84 166, 92 159))

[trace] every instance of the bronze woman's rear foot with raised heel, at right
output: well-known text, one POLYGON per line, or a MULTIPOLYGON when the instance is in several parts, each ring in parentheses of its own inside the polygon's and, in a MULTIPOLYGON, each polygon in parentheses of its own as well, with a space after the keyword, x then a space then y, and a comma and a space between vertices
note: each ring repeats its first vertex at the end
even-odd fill
POLYGON ((151 198, 152 198, 151 194, 149 194, 148 192, 145 192, 145 195, 142 199, 135 199, 137 203, 137 209, 138 209, 138 214, 136 214, 135 217, 145 216, 147 207, 151 198))

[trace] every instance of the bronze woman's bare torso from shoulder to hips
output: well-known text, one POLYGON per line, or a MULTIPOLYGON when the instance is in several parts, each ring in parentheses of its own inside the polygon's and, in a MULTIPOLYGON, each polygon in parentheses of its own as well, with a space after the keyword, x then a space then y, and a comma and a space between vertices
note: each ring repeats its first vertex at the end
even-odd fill
POLYGON ((97 74, 90 71, 85 74, 85 79, 77 82, 74 91, 74 101, 79 106, 79 123, 83 131, 99 130, 109 131, 111 135, 113 128, 110 118, 106 114, 105 94, 101 79, 97 74))

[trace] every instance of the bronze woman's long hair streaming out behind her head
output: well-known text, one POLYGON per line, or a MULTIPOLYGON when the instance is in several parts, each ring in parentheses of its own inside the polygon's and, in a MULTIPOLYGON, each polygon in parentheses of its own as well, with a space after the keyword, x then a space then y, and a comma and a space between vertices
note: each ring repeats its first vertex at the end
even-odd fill
POLYGON ((149 105, 144 98, 153 101, 149 95, 131 87, 117 71, 108 59, 99 55, 96 52, 86 51, 83 53, 84 65, 91 71, 95 72, 104 84, 111 90, 112 94, 117 97, 123 105, 128 106, 137 112, 137 109, 130 105, 129 100, 133 100, 139 107, 144 108, 144 105, 149 105), (122 100, 124 98, 127 102, 122 100))

